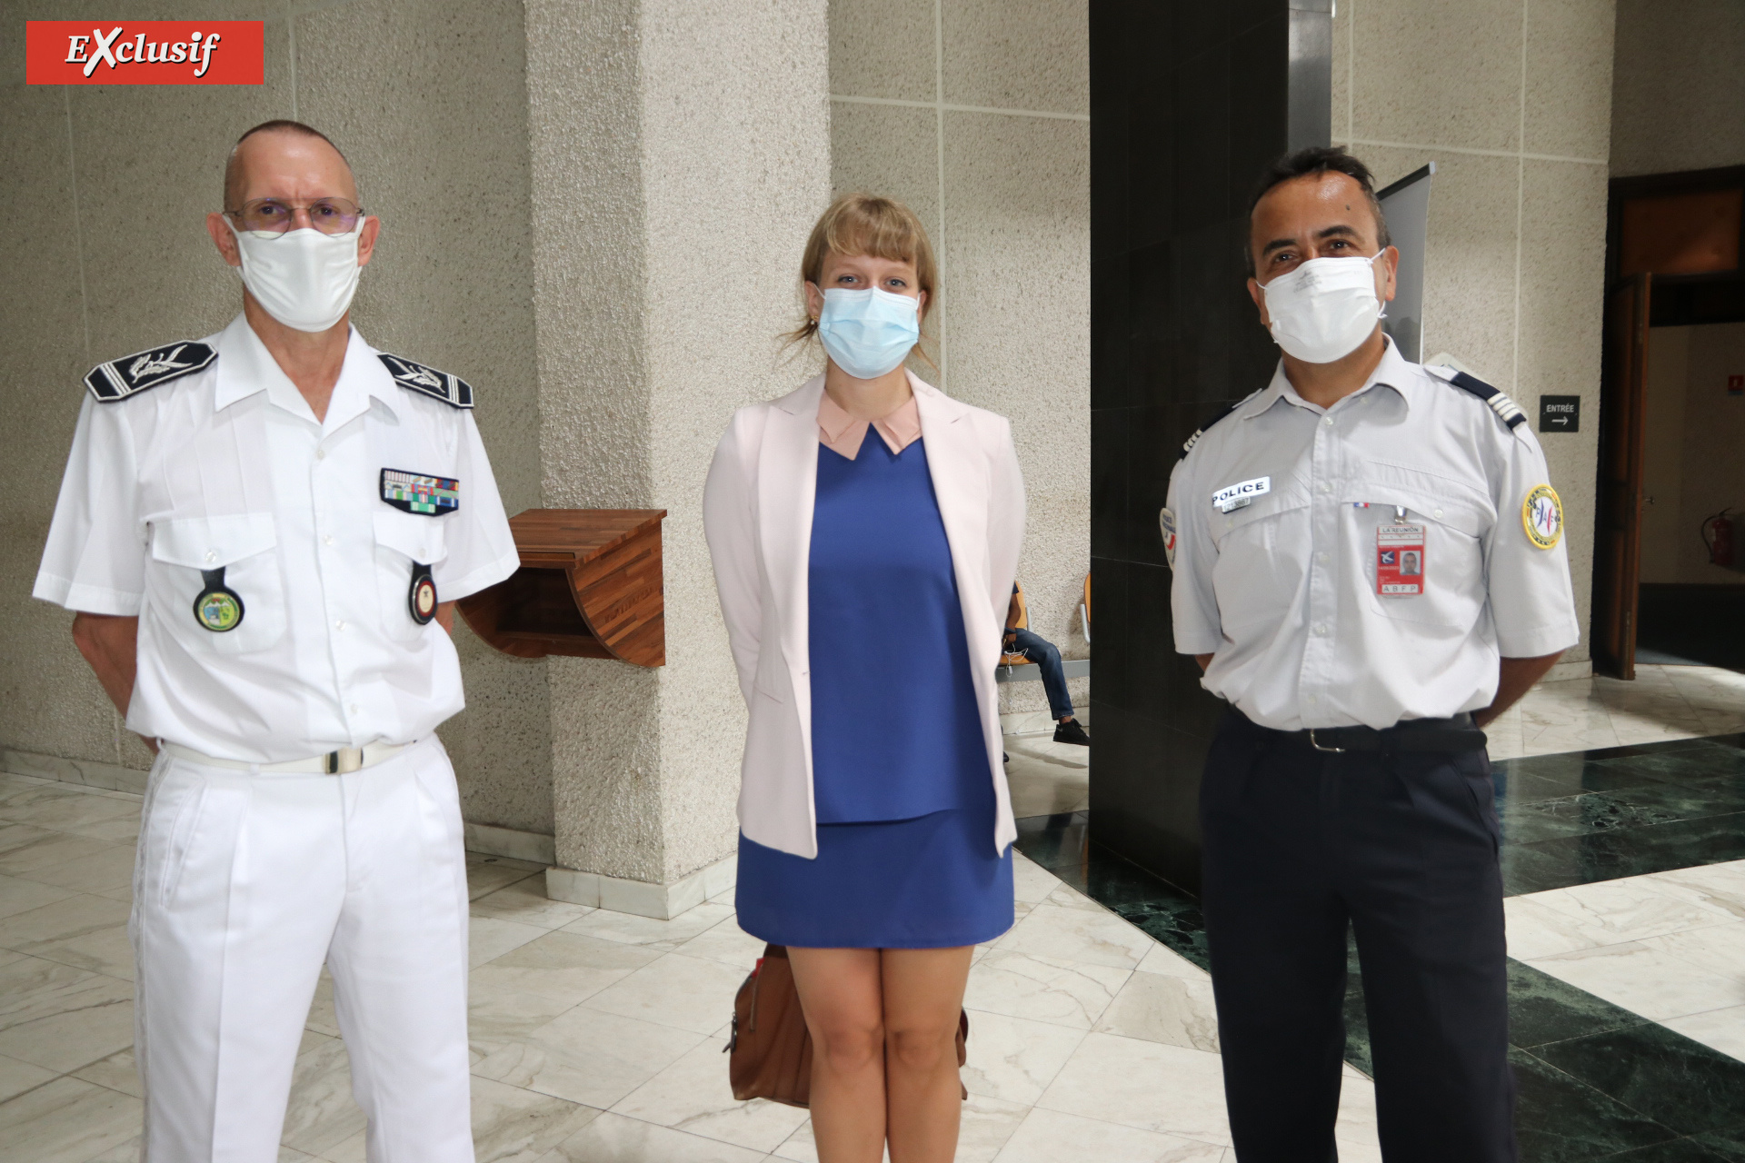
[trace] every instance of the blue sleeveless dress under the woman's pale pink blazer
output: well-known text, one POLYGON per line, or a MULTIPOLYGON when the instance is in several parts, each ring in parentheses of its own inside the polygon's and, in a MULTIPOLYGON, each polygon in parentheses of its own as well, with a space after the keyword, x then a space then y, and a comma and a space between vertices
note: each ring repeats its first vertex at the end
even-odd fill
POLYGON ((818 445, 811 765, 818 856, 740 837, 752 936, 801 949, 948 949, 1012 928, 988 745, 925 439, 818 445))

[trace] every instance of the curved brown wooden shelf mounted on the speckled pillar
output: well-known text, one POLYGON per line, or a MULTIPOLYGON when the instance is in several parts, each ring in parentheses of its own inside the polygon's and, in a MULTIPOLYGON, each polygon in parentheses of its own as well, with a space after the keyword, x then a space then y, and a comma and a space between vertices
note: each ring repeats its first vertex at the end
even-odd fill
POLYGON ((473 633, 517 657, 667 663, 665 509, 527 509, 510 518, 522 568, 461 598, 473 633))

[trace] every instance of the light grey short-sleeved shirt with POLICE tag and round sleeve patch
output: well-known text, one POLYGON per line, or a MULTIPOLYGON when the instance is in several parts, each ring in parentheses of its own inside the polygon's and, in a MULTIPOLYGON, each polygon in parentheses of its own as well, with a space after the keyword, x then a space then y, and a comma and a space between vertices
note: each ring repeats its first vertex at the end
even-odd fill
POLYGON ((1298 396, 1281 363, 1171 476, 1176 650, 1213 654, 1204 687, 1277 731, 1488 706, 1499 656, 1581 638, 1560 502, 1541 486, 1527 424, 1393 342, 1331 408, 1298 396), (1424 528, 1424 593, 1384 596, 1377 528, 1401 514, 1424 528))

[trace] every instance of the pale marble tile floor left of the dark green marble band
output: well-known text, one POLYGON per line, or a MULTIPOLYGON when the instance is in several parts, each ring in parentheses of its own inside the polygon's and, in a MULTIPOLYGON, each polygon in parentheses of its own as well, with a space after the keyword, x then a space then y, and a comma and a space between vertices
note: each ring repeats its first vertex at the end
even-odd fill
MULTIPOLYGON (((138 813, 134 795, 0 776, 9 1163, 134 1160, 126 919, 138 813)), ((733 994, 763 949, 733 922, 731 894, 651 921, 546 900, 539 872, 469 858, 482 1163, 813 1161, 804 1111, 728 1090, 733 994)), ((1019 922, 977 950, 970 978, 958 1160, 1230 1160, 1206 971, 1023 856, 1017 898, 1019 922)), ((349 1085, 323 982, 281 1161, 361 1163, 349 1085)), ((1380 1158, 1373 1088, 1354 1069, 1338 1135, 1347 1163, 1380 1158)))

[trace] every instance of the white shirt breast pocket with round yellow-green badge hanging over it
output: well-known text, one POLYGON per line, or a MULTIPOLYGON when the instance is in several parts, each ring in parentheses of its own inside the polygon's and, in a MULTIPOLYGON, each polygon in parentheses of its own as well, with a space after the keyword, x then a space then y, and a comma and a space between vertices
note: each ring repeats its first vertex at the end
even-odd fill
POLYGON ((154 521, 152 589, 174 636, 215 654, 277 643, 284 636, 277 546, 270 513, 154 521))

